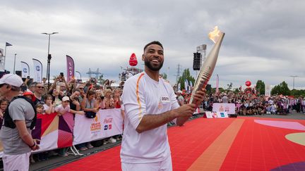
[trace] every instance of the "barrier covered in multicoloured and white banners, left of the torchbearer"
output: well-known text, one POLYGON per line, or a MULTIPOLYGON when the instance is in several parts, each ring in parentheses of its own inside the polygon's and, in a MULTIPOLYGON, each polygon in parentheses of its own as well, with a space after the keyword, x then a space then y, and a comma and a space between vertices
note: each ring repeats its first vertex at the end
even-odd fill
MULTIPOLYGON (((123 118, 120 109, 99 110, 95 118, 85 115, 57 113, 37 115, 32 137, 40 139, 40 150, 49 151, 98 139, 112 137, 123 132, 123 118)), ((39 152, 39 151, 35 151, 39 152)), ((0 141, 0 157, 3 147, 0 141)))

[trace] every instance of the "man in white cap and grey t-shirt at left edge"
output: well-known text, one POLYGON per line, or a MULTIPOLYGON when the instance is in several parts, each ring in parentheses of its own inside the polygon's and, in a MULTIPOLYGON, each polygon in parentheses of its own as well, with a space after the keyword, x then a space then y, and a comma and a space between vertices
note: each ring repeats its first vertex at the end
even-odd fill
POLYGON ((1 96, 8 101, 14 98, 6 109, 8 117, 4 118, 4 125, 0 130, 4 147, 4 170, 29 170, 30 153, 40 148, 32 139, 30 129, 35 110, 26 99, 16 99, 22 84, 23 80, 15 74, 6 74, 0 79, 1 96))

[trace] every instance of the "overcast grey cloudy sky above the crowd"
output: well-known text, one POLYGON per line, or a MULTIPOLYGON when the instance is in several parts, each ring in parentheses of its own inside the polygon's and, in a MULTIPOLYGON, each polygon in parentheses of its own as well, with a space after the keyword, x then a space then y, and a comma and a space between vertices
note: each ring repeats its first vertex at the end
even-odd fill
MULTIPOLYGON (((215 87, 287 82, 305 89, 305 1, 284 0, 155 0, 155 1, 2 1, 0 6, 0 48, 6 51, 6 70, 16 70, 20 61, 32 67, 32 58, 47 71, 48 37, 42 32, 59 32, 50 40, 51 73, 66 73, 66 55, 74 59, 82 77, 99 69, 104 78, 119 80, 121 68, 136 53, 138 68, 148 42, 160 41, 165 63, 160 70, 171 84, 177 68, 189 68, 193 77, 193 53, 201 44, 207 54, 213 47, 208 32, 217 25, 225 32, 218 61, 210 78, 215 87)), ((181 75, 180 72, 180 75, 181 75)))

